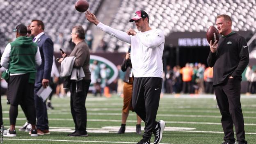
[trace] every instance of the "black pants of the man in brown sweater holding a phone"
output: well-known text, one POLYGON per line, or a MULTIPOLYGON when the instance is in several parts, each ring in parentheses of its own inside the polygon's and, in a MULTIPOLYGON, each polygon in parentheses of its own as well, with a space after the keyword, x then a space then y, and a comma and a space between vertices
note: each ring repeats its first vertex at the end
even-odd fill
POLYGON ((91 80, 81 80, 82 81, 82 91, 76 92, 75 81, 71 82, 70 85, 70 107, 73 121, 75 123, 75 131, 80 134, 87 134, 87 111, 85 108, 85 99, 89 91, 91 80))

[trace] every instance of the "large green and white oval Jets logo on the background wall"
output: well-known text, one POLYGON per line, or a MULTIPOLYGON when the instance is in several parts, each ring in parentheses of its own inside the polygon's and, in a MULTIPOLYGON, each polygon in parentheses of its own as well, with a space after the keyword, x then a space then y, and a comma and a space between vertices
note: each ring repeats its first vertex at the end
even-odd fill
POLYGON ((112 62, 110 62, 108 59, 105 59, 104 57, 100 57, 97 55, 90 55, 90 71, 91 71, 91 85, 90 90, 93 88, 94 83, 96 83, 96 78, 101 79, 102 77, 107 78, 107 84, 112 83, 118 76, 118 70, 117 66, 115 66, 112 62), (94 61, 97 61, 98 64, 98 72, 95 73, 94 61), (102 73, 105 69, 105 73, 102 73), (104 76, 103 76, 104 75, 104 76))

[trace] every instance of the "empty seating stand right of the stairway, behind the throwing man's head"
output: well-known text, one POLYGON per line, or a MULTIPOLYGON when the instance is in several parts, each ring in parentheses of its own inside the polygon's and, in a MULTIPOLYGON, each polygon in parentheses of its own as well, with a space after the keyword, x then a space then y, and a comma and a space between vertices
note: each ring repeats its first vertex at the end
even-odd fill
MULTIPOLYGON (((206 32, 215 25, 219 14, 228 14, 233 19, 234 31, 251 30, 256 32, 255 0, 123 0, 121 7, 110 25, 118 30, 134 27, 128 23, 131 15, 144 9, 149 14, 151 28, 160 28, 168 36, 171 32, 206 32)), ((110 41, 109 51, 114 51, 117 39, 106 34, 105 41, 110 41)), ((128 44, 119 43, 120 51, 127 50, 128 44)))

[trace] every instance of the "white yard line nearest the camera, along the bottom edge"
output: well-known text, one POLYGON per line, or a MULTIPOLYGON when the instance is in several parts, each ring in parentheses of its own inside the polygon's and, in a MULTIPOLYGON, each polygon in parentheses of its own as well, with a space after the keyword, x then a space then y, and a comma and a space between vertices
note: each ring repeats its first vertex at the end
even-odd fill
MULTIPOLYGON (((135 142, 107 142, 107 141, 84 141, 84 140, 60 140, 60 139, 9 139, 4 138, 5 140, 30 140, 30 141, 55 141, 55 142, 95 142, 95 143, 116 143, 116 144, 134 144, 135 142)), ((160 144, 170 144, 170 143, 160 143, 160 144)))

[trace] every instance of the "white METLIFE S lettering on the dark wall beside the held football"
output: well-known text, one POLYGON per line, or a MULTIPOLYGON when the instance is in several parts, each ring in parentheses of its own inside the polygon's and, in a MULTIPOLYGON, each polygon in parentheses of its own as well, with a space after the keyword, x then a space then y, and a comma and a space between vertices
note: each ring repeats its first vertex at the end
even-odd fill
POLYGON ((209 46, 206 38, 179 38, 178 46, 209 46))

